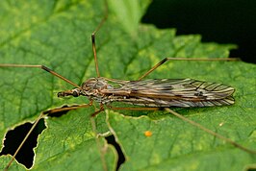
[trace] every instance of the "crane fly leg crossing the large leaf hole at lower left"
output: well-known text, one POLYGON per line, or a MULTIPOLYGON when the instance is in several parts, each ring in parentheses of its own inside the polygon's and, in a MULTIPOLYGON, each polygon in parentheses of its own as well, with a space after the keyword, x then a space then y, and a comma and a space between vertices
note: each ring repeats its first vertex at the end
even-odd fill
POLYGON ((22 142, 19 144, 18 148, 16 149, 15 153, 13 154, 12 159, 9 161, 9 163, 7 164, 5 171, 7 171, 9 169, 9 167, 11 166, 13 160, 15 159, 16 155, 18 154, 19 150, 22 148, 23 144, 26 142, 26 140, 28 139, 29 135, 34 131, 34 129, 36 128, 36 126, 38 125, 38 121, 46 114, 52 114, 55 112, 60 112, 60 111, 68 111, 68 110, 77 110, 80 108, 89 108, 92 105, 92 101, 90 101, 89 104, 83 104, 83 105, 79 105, 76 107, 67 107, 67 108, 62 108, 62 109, 53 109, 53 110, 46 110, 40 113, 40 115, 38 116, 37 120, 35 121, 35 123, 33 124, 33 126, 31 127, 31 129, 29 130, 28 134, 26 134, 26 136, 24 137, 24 139, 22 140, 22 142))

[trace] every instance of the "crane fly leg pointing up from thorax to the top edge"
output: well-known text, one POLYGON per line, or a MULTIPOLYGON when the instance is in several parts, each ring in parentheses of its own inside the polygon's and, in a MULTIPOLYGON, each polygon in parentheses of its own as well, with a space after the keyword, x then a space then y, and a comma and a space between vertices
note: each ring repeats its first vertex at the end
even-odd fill
POLYGON ((105 23, 105 21, 108 18, 108 4, 105 2, 105 15, 102 18, 102 20, 100 21, 99 25, 97 26, 97 28, 95 29, 95 31, 91 34, 91 44, 92 44, 92 52, 93 52, 93 57, 94 57, 94 62, 95 62, 95 69, 96 69, 96 73, 97 73, 97 77, 100 77, 100 73, 99 73, 99 68, 98 68, 98 60, 97 60, 97 53, 96 53, 96 42, 95 42, 95 35, 96 33, 99 31, 99 29, 102 27, 102 25, 105 23))

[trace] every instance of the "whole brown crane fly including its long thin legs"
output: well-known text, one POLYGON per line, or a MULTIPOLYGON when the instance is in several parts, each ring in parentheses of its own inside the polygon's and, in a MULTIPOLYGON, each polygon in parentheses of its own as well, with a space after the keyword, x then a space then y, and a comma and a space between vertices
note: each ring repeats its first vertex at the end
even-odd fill
MULTIPOLYGON (((103 19, 103 22, 105 19, 103 19)), ((102 23, 99 27, 101 27, 102 23)), ((98 29, 96 29, 96 32, 98 29)), ((54 109, 47 110, 46 113, 57 112, 60 110, 74 110, 79 108, 88 108, 92 105, 92 102, 97 102, 100 104, 100 109, 96 110, 91 114, 92 118, 96 116, 99 112, 103 111, 105 108, 110 108, 112 110, 159 110, 164 108, 164 110, 176 114, 178 117, 182 115, 178 114, 173 110, 169 110, 169 107, 208 107, 208 106, 223 106, 232 105, 234 103, 234 98, 232 97, 235 89, 228 85, 208 83, 203 81, 197 81, 192 79, 153 79, 144 80, 144 78, 158 68, 165 61, 171 60, 170 58, 164 59, 156 64, 152 69, 146 72, 137 81, 123 81, 100 77, 98 70, 98 62, 96 57, 96 49, 94 43, 94 32, 92 34, 92 49, 94 53, 94 61, 97 77, 90 78, 82 85, 77 85, 64 76, 58 74, 57 72, 49 69, 43 65, 15 65, 15 64, 1 64, 1 67, 37 67, 41 68, 56 77, 64 80, 66 83, 75 86, 73 89, 64 90, 58 93, 59 97, 66 96, 87 96, 90 99, 90 103, 77 107, 70 107, 64 109, 54 109), (133 105, 143 106, 143 108, 115 108, 111 104, 113 102, 124 102, 133 105)), ((172 59, 173 60, 173 59, 172 59)), ((42 115, 38 117, 41 118, 42 115)), ((181 117, 183 120, 189 121, 186 118, 181 117)), ((190 121, 189 121, 190 122, 190 121)), ((191 122, 193 125, 193 122, 191 122)), ((37 122, 34 124, 36 126, 37 122)), ((93 124, 92 124, 93 125, 93 124)), ((197 127, 200 127, 196 125, 197 127)), ((203 129, 200 127, 200 129, 203 129)), ((245 150, 243 146, 237 144, 236 142, 229 140, 223 136, 216 133, 210 132, 207 129, 204 131, 214 134, 219 138, 222 138, 233 145, 245 150)), ((26 139, 24 139, 26 140, 26 139)), ((22 144, 21 144, 22 145, 22 144)), ((18 153, 18 151, 17 151, 18 153)), ((12 161, 11 161, 12 162, 12 161)), ((11 163, 10 163, 11 164, 11 163)), ((8 165, 8 167, 10 166, 8 165)))

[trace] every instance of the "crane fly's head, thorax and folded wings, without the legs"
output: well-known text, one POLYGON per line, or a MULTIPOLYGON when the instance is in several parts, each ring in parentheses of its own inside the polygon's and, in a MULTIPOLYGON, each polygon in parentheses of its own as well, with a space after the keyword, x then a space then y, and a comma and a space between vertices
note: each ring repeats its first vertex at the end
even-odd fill
POLYGON ((121 81, 100 77, 90 78, 81 87, 59 92, 58 96, 87 96, 102 105, 123 102, 144 107, 188 108, 232 105, 234 91, 228 85, 192 79, 121 81))

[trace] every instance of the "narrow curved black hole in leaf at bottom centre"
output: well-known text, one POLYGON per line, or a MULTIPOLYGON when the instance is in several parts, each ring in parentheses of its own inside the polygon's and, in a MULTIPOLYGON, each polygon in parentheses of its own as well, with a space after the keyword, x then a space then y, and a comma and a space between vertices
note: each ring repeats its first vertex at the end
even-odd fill
POLYGON ((117 165, 116 165, 115 170, 118 170, 120 165, 122 163, 124 163, 124 161, 125 161, 124 154, 123 154, 123 152, 121 150, 120 145, 115 141, 115 136, 114 135, 109 135, 109 136, 107 136, 105 138, 107 139, 109 144, 112 144, 115 147, 115 150, 116 150, 117 155, 118 155, 118 160, 117 160, 117 165))

